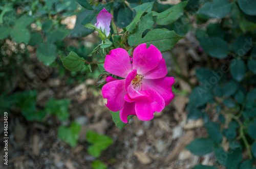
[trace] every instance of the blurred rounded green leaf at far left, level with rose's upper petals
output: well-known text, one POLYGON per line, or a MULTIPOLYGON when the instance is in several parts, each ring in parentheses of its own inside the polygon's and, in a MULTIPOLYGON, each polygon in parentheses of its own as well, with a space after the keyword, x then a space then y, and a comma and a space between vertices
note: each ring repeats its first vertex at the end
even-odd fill
POLYGON ((46 66, 49 66, 56 59, 57 54, 56 45, 48 42, 42 42, 36 49, 37 59, 40 62, 44 62, 46 66))

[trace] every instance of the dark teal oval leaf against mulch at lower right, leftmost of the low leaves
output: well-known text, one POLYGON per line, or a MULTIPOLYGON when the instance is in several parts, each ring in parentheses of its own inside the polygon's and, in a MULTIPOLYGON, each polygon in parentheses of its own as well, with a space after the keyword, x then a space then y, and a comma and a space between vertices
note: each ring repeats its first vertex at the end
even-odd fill
POLYGON ((212 151, 212 147, 214 147, 214 142, 208 138, 196 138, 191 142, 186 149, 189 150, 191 153, 203 156, 207 153, 212 151))

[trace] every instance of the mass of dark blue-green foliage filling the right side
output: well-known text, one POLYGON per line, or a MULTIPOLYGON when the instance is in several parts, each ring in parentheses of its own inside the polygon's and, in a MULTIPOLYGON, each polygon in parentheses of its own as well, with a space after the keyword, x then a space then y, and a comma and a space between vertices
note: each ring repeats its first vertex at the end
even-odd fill
MULTIPOLYGON (((255 168, 252 164, 255 162, 256 135, 253 66, 256 32, 251 27, 256 23, 256 16, 251 9, 256 8, 256 4, 220 0, 190 2, 195 2, 193 6, 199 9, 191 13, 199 25, 212 18, 218 20, 206 24, 206 30, 200 26, 195 29, 203 51, 209 56, 209 68, 196 70, 199 86, 190 94, 186 109, 188 119, 203 117, 208 137, 196 138, 186 149, 199 156, 213 151, 218 163, 227 169, 255 168), (204 118, 211 112, 218 114, 217 121, 204 118), (229 143, 228 152, 222 148, 224 137, 229 143), (249 160, 242 162, 242 152, 248 154, 249 160)), ((209 166, 200 164, 194 168, 209 166)))

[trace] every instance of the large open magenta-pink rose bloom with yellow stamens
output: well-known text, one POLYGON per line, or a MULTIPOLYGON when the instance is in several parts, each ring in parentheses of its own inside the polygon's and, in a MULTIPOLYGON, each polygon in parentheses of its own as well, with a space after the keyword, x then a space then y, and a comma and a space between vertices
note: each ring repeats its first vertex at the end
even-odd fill
POLYGON ((133 63, 122 48, 113 49, 106 55, 104 68, 109 73, 124 79, 106 78, 102 95, 108 99, 106 106, 111 111, 120 110, 122 122, 135 115, 147 121, 154 118, 173 100, 173 77, 165 77, 167 68, 161 52, 154 46, 141 44, 134 49, 133 63))

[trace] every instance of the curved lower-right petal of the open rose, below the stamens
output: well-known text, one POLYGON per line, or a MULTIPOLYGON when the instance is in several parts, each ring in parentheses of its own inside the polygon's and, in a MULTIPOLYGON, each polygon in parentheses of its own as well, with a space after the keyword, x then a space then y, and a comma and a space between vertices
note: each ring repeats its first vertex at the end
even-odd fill
POLYGON ((164 99, 146 83, 143 83, 143 89, 151 95, 151 100, 136 100, 135 111, 138 119, 147 121, 154 118, 154 112, 162 111, 165 103, 164 99))

